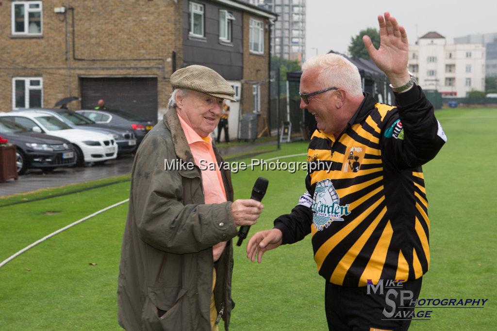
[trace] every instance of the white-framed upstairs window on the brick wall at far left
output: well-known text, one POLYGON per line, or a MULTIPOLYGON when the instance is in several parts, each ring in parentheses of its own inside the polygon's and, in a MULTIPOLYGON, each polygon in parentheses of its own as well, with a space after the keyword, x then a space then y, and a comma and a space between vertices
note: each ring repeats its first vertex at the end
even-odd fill
POLYGON ((12 35, 40 36, 42 33, 41 1, 12 2, 12 35))

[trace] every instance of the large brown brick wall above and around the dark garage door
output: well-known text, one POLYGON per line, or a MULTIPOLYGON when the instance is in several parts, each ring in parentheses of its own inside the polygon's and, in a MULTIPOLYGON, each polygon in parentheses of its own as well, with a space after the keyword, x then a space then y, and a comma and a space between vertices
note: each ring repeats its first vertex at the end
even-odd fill
MULTIPOLYGON (((12 107, 15 76, 43 78, 44 107, 79 96, 82 76, 156 76, 159 109, 166 108, 171 54, 176 51, 180 67, 182 53, 180 29, 175 28, 182 26, 182 16, 173 1, 69 1, 66 6, 74 7, 74 54, 72 11, 54 12, 63 2, 42 1, 43 35, 30 38, 10 35, 10 3, 0 6, 0 44, 7 50, 0 57, 0 110, 12 107)), ((80 106, 70 104, 73 109, 80 106)))

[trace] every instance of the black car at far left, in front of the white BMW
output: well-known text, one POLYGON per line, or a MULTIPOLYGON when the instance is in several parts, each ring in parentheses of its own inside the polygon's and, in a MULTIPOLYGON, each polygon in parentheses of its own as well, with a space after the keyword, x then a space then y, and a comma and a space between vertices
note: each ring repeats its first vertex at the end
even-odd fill
POLYGON ((16 146, 19 175, 28 168, 52 171, 76 163, 73 145, 66 139, 31 132, 4 118, 0 118, 0 135, 16 146))

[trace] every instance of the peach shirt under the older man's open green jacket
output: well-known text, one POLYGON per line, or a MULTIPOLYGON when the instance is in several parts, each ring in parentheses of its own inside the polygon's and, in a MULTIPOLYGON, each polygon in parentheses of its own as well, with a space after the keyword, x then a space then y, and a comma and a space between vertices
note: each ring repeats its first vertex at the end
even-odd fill
POLYGON ((202 138, 195 132, 178 114, 179 123, 186 137, 186 141, 190 146, 191 153, 195 164, 199 167, 207 168, 201 169, 202 172, 202 186, 204 187, 205 203, 221 203, 226 202, 226 192, 224 190, 223 178, 221 171, 216 163, 216 155, 212 148, 212 139, 210 136, 202 138), (200 162, 200 160, 206 160, 200 162), (215 165, 216 171, 211 170, 212 164, 215 165))

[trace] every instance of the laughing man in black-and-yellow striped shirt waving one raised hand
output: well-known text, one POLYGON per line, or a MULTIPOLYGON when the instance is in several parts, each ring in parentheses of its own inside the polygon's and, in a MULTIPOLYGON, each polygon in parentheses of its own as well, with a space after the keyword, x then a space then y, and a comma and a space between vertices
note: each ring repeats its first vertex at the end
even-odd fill
POLYGON ((421 166, 447 138, 408 72, 406 30, 388 12, 378 21, 380 48, 368 36, 363 41, 397 106, 362 92, 357 67, 342 56, 309 59, 300 108, 315 116, 318 130, 308 149, 307 192, 247 246, 248 258, 260 263, 264 252, 311 234, 330 330, 407 330, 430 262, 421 166))

